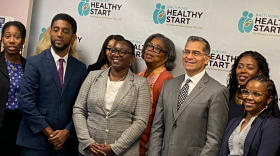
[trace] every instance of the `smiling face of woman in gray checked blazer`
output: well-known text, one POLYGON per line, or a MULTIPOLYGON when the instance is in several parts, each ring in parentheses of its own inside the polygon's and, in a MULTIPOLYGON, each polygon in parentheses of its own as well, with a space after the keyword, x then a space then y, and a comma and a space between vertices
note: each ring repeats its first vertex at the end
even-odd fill
MULTIPOLYGON (((125 50, 128 53, 132 53, 132 49, 124 41, 115 42, 113 48, 117 51, 125 50)), ((116 71, 129 70, 130 64, 134 59, 134 55, 125 54, 123 57, 121 57, 119 53, 116 52, 115 55, 111 55, 111 66, 116 71)))

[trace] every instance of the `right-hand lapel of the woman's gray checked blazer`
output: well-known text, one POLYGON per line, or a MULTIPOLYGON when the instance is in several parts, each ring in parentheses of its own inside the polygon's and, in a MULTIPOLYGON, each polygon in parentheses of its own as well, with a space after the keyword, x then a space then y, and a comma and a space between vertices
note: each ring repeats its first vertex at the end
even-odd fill
POLYGON ((113 103, 113 106, 112 106, 110 112, 112 112, 116 108, 116 106, 120 103, 120 101, 124 98, 124 96, 126 96, 128 94, 128 91, 134 85, 133 80, 134 80, 134 75, 129 70, 128 74, 127 74, 127 77, 125 78, 121 88, 119 89, 119 91, 116 95, 116 98, 114 100, 114 103, 113 103))

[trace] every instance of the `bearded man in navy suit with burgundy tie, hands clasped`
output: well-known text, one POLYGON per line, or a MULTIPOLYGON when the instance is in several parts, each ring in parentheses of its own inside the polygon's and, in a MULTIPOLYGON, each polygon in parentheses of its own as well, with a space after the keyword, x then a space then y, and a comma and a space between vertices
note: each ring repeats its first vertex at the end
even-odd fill
POLYGON ((72 109, 86 76, 85 64, 68 54, 76 31, 71 16, 57 14, 51 48, 27 59, 18 98, 23 120, 16 143, 22 156, 69 155, 75 137, 72 109))

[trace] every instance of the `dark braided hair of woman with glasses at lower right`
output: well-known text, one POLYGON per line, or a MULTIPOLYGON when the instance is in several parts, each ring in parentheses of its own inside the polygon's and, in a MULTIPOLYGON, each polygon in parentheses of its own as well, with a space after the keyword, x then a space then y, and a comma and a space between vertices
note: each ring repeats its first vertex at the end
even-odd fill
POLYGON ((278 105, 278 96, 277 96, 277 91, 276 91, 276 87, 275 87, 274 82, 271 79, 269 79, 268 77, 266 77, 265 75, 257 75, 257 76, 252 77, 251 79, 249 79, 246 82, 245 86, 247 86, 247 84, 250 81, 253 81, 253 80, 261 82, 261 83, 265 83, 268 96, 272 96, 273 97, 271 102, 267 105, 267 108, 264 109, 258 115, 258 117, 265 118, 266 116, 273 115, 274 114, 274 106, 278 105))

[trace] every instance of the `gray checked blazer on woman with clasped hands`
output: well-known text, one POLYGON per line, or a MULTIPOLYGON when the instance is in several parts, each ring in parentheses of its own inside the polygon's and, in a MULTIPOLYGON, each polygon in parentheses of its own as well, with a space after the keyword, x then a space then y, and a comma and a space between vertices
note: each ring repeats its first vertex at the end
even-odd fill
POLYGON ((85 149, 97 142, 110 144, 117 155, 139 155, 139 137, 150 114, 147 79, 129 71, 107 114, 104 97, 109 69, 90 72, 77 97, 73 121, 79 151, 90 155, 85 149))

